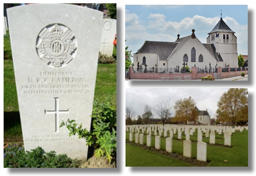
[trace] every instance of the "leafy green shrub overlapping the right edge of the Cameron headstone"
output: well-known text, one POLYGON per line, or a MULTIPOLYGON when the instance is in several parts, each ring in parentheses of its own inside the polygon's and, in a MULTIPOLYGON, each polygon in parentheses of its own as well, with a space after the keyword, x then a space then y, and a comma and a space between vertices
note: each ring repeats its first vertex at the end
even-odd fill
POLYGON ((66 125, 70 131, 70 136, 78 135, 84 138, 89 146, 94 147, 94 155, 105 157, 110 163, 116 156, 116 109, 108 101, 106 104, 94 103, 92 112, 92 129, 91 131, 82 128, 75 120, 65 123, 62 121, 60 127, 66 125))

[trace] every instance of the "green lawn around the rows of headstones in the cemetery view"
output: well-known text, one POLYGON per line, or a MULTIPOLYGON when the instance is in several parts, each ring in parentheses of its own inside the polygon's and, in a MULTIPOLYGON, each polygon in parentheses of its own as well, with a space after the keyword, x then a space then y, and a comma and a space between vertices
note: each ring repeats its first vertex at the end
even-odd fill
MULTIPOLYGON (((216 135, 222 143, 221 135, 216 135)), ((135 139, 135 134, 133 140, 135 139)), ((185 139, 185 136, 182 136, 185 139)), ((216 140, 217 140, 216 139, 216 140)), ((126 133, 126 140, 129 140, 129 133, 126 133)), ((209 139, 203 138, 207 142, 207 162, 209 167, 248 167, 248 131, 242 133, 235 132, 231 136, 231 146, 224 147, 223 144, 209 145, 209 139)), ((146 135, 144 135, 144 145, 126 143, 126 166, 146 167, 146 166, 189 166, 182 160, 177 160, 166 155, 161 155, 150 150, 146 145, 146 135), (137 145, 137 146, 136 146, 137 145)), ((155 137, 152 136, 152 146, 155 146, 155 137)), ((161 137, 161 150, 165 150, 165 138, 161 137)), ((183 140, 173 139, 173 153, 183 155, 183 140)), ((197 142, 192 142, 192 158, 197 158, 197 142)), ((191 164, 190 166, 198 166, 191 164)))

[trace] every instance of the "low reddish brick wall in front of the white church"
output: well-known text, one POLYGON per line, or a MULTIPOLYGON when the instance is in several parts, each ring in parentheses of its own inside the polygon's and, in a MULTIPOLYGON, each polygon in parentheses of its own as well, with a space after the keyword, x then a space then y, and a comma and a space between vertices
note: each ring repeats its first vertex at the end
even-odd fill
MULTIPOLYGON (((242 68, 241 68, 242 70, 242 68)), ((244 72, 248 74, 248 70, 245 71, 230 71, 230 67, 228 68, 228 72, 222 72, 222 67, 218 67, 218 73, 221 73, 221 78, 230 78, 241 76, 241 73, 244 72)), ((174 77, 181 77, 184 80, 184 77, 191 76, 191 80, 201 80, 202 77, 206 76, 214 77, 214 73, 198 73, 197 67, 191 68, 191 73, 134 73, 133 67, 130 67, 130 80, 161 80, 161 78, 168 78, 169 80, 174 80, 174 77)))

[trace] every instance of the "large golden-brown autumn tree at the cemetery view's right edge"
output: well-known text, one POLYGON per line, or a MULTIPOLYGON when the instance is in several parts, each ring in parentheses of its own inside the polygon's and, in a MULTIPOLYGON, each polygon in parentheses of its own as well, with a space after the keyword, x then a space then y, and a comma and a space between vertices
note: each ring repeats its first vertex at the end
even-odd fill
POLYGON ((218 102, 216 111, 218 123, 248 122, 248 90, 245 88, 230 88, 218 102))

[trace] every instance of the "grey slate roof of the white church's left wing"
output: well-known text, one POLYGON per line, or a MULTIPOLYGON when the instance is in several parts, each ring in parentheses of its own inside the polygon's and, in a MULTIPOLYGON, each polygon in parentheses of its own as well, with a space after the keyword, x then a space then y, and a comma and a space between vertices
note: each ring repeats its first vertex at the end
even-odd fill
POLYGON ((167 60, 178 42, 146 41, 137 53, 158 53, 160 60, 167 60))

